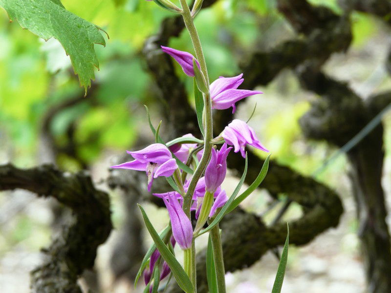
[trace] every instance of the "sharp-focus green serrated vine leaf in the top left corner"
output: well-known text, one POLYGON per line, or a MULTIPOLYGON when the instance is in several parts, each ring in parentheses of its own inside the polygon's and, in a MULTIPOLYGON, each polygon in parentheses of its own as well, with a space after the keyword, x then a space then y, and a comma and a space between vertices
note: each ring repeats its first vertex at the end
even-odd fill
POLYGON ((61 0, 0 0, 10 21, 17 20, 23 28, 48 40, 57 39, 69 55, 80 85, 87 88, 99 69, 94 43, 106 45, 100 28, 65 10, 61 0))

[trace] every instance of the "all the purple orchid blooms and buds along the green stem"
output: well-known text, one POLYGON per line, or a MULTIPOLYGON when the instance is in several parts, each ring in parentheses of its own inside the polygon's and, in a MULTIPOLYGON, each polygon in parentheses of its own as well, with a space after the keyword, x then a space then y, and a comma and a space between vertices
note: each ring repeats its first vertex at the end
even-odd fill
MULTIPOLYGON (((200 73, 200 64, 195 57, 188 53, 175 50, 169 47, 163 47, 163 52, 169 54, 182 67, 185 74, 197 78, 200 73)), ((202 75, 202 74, 201 74, 202 75)), ((243 83, 243 74, 235 77, 219 77, 210 86, 206 85, 210 94, 213 109, 228 109, 233 108, 235 112, 237 103, 245 97, 255 94, 261 94, 260 91, 238 89, 243 83)), ((202 75, 202 79, 203 79, 202 75)), ((205 84, 204 84, 205 85, 205 84)), ((208 92, 207 92, 208 93, 208 92)), ((147 174, 147 186, 151 191, 153 179, 158 176, 171 177, 173 174, 174 182, 178 186, 177 191, 169 191, 165 193, 153 193, 160 197, 169 213, 172 230, 172 243, 178 243, 178 246, 189 251, 192 248, 194 235, 197 235, 199 230, 204 226, 209 218, 213 218, 217 210, 224 206, 228 198, 226 192, 221 188, 227 172, 227 156, 231 150, 239 152, 245 157, 245 146, 250 145, 268 152, 268 150, 258 140, 254 130, 245 122, 235 119, 224 128, 220 136, 215 138, 213 142, 223 145, 217 149, 212 147, 209 158, 202 158, 205 163, 203 176, 192 178, 190 174, 186 175, 182 171, 181 164, 188 164, 196 167, 198 161, 203 156, 203 145, 198 145, 197 140, 192 134, 186 134, 169 147, 155 143, 138 151, 128 151, 134 158, 130 162, 112 166, 113 168, 125 168, 132 170, 145 171, 147 174), (195 142, 195 143, 189 143, 195 142), (186 143, 185 143, 186 142, 186 143), (206 166, 206 167, 205 167, 206 166), (182 177, 182 178, 181 178, 182 177), (195 179, 192 186, 193 194, 189 200, 190 210, 195 211, 195 219, 197 223, 193 229, 191 219, 185 213, 184 202, 192 179, 195 179), (180 187, 180 188, 179 188, 180 187), (193 191, 194 190, 194 191, 193 191)), ((189 208, 187 208, 189 210, 189 208)), ((153 268, 160 257, 159 251, 154 251, 150 257, 150 265, 144 272, 144 280, 146 284, 151 281, 153 268)), ((163 263, 160 279, 163 279, 170 272, 167 263, 163 263)))

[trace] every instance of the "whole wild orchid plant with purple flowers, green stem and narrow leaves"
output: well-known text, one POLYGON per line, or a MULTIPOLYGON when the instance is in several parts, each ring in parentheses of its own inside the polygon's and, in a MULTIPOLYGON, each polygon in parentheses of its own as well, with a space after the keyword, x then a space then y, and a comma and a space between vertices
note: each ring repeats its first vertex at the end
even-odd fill
MULTIPOLYGON (((170 0, 154 1, 159 6, 182 15, 193 42, 195 57, 188 52, 169 47, 162 46, 162 50, 179 63, 186 75, 194 77, 195 105, 203 140, 187 134, 164 143, 159 136, 160 124, 155 129, 150 120, 156 143, 138 151, 128 151, 134 158, 133 161, 112 166, 113 168, 146 171, 149 191, 151 191, 153 179, 159 176, 166 177, 174 189, 166 193, 154 193, 155 196, 162 198, 170 217, 169 225, 160 234, 153 228, 144 209, 139 206, 154 244, 144 257, 135 284, 144 272, 145 292, 155 293, 158 291, 160 281, 172 273, 183 291, 195 293, 195 238, 208 232, 209 292, 225 293, 225 270, 218 223, 225 214, 235 209, 261 184, 267 172, 270 155, 265 160, 254 183, 237 197, 247 172, 245 146, 254 146, 265 152, 268 150, 260 143, 254 130, 238 119, 233 120, 219 136, 214 138, 212 109, 221 110, 232 107, 235 112, 236 102, 261 92, 238 89, 243 82, 243 74, 228 78, 220 77, 209 84, 204 54, 193 22, 201 8, 202 0, 195 0, 192 10, 186 0, 180 0, 181 8, 170 0), (217 150, 218 145, 222 146, 217 150), (227 156, 232 149, 234 152, 240 151, 245 158, 245 168, 237 188, 228 198, 221 184, 227 171, 227 156), (194 228, 191 222, 192 210, 195 211, 197 220, 194 228), (208 226, 204 228, 206 223, 208 226), (176 243, 184 251, 183 267, 174 256, 176 243)), ((273 293, 281 290, 286 255, 287 245, 282 253, 273 293)))

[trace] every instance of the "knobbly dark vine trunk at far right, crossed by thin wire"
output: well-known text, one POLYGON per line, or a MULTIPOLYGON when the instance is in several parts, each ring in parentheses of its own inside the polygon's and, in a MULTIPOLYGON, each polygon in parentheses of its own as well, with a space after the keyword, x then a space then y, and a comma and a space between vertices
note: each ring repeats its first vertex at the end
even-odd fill
MULTIPOLYGON (((365 104, 346 84, 332 80, 310 65, 299 74, 302 84, 321 96, 300 121, 308 138, 326 139, 342 147, 369 123, 381 110, 379 107, 390 102, 390 95, 386 93, 370 98, 365 104)), ((348 152, 348 159, 368 290, 391 292, 391 243, 381 185, 382 124, 348 152)))

